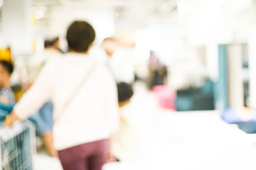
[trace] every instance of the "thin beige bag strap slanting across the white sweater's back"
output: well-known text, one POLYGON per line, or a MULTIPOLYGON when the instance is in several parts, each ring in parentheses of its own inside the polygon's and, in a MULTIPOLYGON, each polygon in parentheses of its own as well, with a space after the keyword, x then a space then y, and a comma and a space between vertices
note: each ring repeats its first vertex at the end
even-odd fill
POLYGON ((81 79, 81 82, 78 84, 78 86, 75 88, 73 93, 67 98, 67 100, 64 102, 64 105, 59 113, 62 113, 58 118, 55 118, 55 121, 57 119, 60 119, 63 113, 66 111, 67 107, 70 105, 70 103, 73 101, 73 99, 76 97, 78 92, 81 90, 83 85, 87 82, 87 80, 90 78, 90 76, 93 74, 93 71, 96 69, 96 65, 94 64, 89 71, 84 74, 84 77, 81 79))

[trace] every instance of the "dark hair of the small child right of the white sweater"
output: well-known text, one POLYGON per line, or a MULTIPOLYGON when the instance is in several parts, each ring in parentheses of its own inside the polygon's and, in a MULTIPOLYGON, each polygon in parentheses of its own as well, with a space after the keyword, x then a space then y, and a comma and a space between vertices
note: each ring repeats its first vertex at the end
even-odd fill
POLYGON ((118 102, 125 102, 133 96, 134 92, 131 85, 120 82, 117 84, 118 102))

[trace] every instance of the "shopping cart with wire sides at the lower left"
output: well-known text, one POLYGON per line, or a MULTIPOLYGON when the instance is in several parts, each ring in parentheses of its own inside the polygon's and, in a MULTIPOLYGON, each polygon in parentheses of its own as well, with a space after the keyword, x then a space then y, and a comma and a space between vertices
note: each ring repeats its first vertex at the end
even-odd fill
POLYGON ((35 128, 31 122, 0 127, 0 170, 33 170, 35 128))

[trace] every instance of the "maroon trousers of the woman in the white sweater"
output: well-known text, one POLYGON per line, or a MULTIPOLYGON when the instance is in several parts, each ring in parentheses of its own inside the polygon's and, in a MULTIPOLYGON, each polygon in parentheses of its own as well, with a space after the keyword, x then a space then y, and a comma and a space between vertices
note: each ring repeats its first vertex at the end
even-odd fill
POLYGON ((108 139, 81 144, 58 151, 64 170, 102 170, 108 160, 108 139))

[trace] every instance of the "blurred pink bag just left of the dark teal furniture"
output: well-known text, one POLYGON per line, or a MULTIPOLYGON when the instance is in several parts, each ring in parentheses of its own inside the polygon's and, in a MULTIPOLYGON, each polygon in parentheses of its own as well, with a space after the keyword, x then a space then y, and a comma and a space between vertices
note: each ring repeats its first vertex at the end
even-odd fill
POLYGON ((160 107, 176 110, 176 91, 165 85, 156 85, 152 88, 152 91, 156 94, 160 107))

